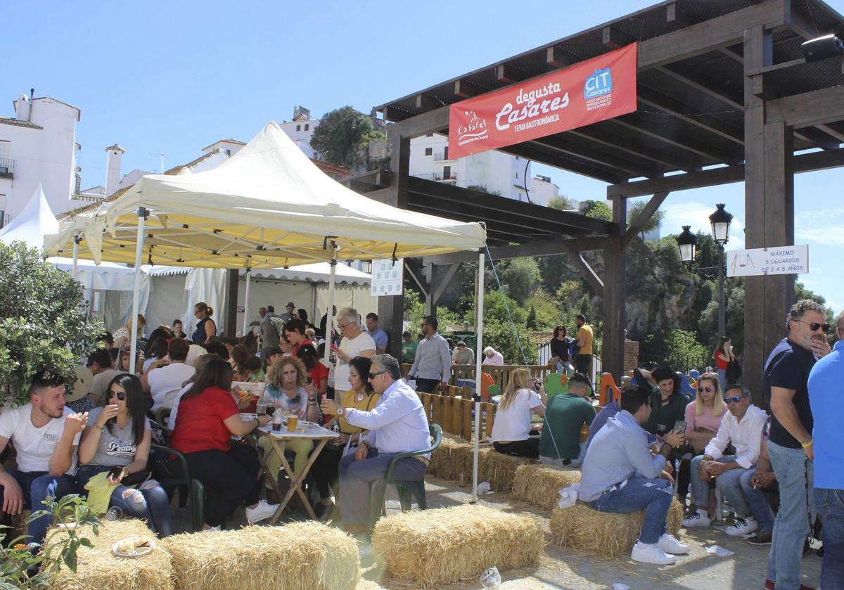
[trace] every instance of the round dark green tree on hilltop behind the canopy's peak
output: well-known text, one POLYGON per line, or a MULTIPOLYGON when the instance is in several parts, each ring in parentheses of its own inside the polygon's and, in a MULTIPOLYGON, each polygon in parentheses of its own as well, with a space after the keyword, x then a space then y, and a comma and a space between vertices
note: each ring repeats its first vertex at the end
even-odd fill
POLYGON ((367 155, 361 155, 365 147, 384 138, 385 134, 376 130, 370 116, 343 106, 322 116, 311 137, 311 147, 324 160, 354 168, 361 159, 368 159, 367 155))

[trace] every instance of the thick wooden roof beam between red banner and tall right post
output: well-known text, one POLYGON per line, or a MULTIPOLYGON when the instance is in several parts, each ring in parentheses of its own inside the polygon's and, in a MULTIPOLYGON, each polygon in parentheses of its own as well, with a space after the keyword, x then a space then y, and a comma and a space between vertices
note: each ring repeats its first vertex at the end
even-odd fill
POLYGON ((739 43, 744 31, 761 25, 766 29, 786 24, 788 0, 768 0, 715 19, 659 35, 639 44, 639 68, 656 68, 739 43))

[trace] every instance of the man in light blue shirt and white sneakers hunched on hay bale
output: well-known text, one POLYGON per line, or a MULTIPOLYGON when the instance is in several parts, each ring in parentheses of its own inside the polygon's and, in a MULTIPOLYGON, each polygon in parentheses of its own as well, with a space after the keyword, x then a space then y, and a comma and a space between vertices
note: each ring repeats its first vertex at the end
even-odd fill
POLYGON ((635 512, 645 509, 639 541, 630 557, 660 566, 674 555, 689 552, 666 532, 668 508, 674 498, 674 479, 665 471, 673 447, 684 443, 682 433, 668 432, 656 456, 648 448, 642 425, 651 417, 651 390, 625 387, 621 411, 607 420, 583 459, 579 498, 600 512, 635 512))

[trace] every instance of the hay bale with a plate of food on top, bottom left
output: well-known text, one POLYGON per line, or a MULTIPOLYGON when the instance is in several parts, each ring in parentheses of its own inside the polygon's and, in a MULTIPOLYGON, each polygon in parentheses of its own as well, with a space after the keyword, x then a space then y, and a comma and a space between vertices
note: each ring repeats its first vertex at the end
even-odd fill
MULTIPOLYGON (((146 523, 136 519, 104 522, 95 536, 90 527, 79 527, 77 533, 90 539, 91 548, 79 547, 76 573, 62 566, 53 590, 83 590, 89 588, 120 588, 121 590, 172 590, 173 566, 170 553, 163 547, 163 541, 155 539, 155 533, 146 523), (151 537, 156 547, 143 557, 117 557, 111 547, 127 537, 151 537)), ((48 545, 57 543, 61 529, 51 528, 47 533, 48 545), (57 531, 53 536, 51 534, 57 531)), ((57 549, 56 549, 57 550, 57 549)))

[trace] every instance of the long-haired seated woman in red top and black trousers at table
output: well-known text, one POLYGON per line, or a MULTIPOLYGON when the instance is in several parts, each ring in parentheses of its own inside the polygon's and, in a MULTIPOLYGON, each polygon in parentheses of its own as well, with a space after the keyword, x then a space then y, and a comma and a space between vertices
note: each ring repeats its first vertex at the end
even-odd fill
POLYGON ((231 365, 223 359, 208 360, 190 389, 181 396, 170 445, 185 454, 191 476, 199 479, 208 495, 204 528, 219 530, 223 519, 246 504, 246 519, 257 522, 272 517, 277 504, 258 500, 257 451, 231 444, 231 436, 244 436, 269 423, 268 416, 242 419, 232 398, 231 365))

